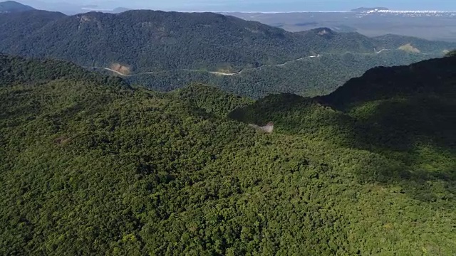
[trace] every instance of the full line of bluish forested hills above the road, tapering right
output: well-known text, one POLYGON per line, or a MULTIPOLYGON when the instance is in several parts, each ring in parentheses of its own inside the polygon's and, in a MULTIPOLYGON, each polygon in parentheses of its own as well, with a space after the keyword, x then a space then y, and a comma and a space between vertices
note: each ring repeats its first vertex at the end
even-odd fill
MULTIPOLYGON (((385 48, 385 42, 358 33, 336 33, 328 28, 290 33, 212 13, 27 14, 38 20, 31 21, 26 14, 21 18, 0 16, 4 35, 1 52, 61 58, 85 66, 110 67, 119 63, 132 73, 175 69, 235 71, 318 53, 375 53, 385 48), (18 34, 24 36, 19 38, 18 34)), ((387 43, 394 50, 411 42, 387 43)), ((435 42, 432 46, 423 53, 442 54, 442 50, 456 48, 451 43, 435 42)))

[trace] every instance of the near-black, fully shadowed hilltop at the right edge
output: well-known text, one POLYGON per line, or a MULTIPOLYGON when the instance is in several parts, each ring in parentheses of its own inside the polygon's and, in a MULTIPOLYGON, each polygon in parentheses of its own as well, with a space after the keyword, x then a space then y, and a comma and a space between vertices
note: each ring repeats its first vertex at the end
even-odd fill
POLYGON ((455 67, 456 58, 447 57, 408 66, 373 68, 361 78, 353 78, 330 95, 321 97, 321 100, 344 109, 365 102, 418 94, 451 99, 456 97, 455 67))

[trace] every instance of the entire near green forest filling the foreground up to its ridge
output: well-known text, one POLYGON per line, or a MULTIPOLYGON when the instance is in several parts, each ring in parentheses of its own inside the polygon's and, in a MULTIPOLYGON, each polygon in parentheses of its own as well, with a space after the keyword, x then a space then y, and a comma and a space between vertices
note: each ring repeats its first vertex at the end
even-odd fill
POLYGON ((0 64, 1 255, 456 253, 456 58, 255 102, 0 64))

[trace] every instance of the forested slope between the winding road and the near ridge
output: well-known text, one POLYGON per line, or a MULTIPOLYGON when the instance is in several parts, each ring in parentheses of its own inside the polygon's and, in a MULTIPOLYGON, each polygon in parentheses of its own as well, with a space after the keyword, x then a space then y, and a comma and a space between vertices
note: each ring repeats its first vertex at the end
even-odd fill
MULTIPOLYGON (((306 58, 283 66, 266 66, 244 70, 239 75, 217 75, 205 71, 177 70, 125 77, 130 84, 148 85, 152 90, 175 90, 197 81, 214 85, 226 92, 255 99, 271 93, 291 92, 302 96, 324 95, 347 80, 363 75, 363 70, 383 65, 400 65, 422 60, 420 55, 403 51, 371 54, 326 54, 306 58), (338 69, 335 70, 334 67, 338 69), (154 81, 152 84, 149 81, 154 81)), ((109 71, 105 71, 109 75, 109 71)))

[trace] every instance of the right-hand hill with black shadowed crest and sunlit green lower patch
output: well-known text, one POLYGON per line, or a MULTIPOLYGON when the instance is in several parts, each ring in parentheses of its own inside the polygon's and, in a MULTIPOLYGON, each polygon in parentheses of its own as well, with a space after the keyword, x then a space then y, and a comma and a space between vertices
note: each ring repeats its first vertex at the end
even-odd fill
POLYGON ((373 68, 330 95, 304 98, 270 95, 230 114, 246 123, 274 122, 276 132, 301 134, 334 144, 367 149, 421 164, 436 164, 454 177, 446 157, 456 155, 456 58, 408 66, 373 68), (430 155, 425 150, 434 151, 430 155), (439 156, 441 152, 445 156, 439 156), (440 159, 440 160, 437 160, 440 159))

